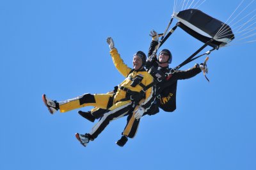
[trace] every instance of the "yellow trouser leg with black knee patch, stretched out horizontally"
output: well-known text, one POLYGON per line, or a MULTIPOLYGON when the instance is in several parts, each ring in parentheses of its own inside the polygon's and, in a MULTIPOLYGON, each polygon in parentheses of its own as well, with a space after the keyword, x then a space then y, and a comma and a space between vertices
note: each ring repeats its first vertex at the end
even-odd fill
POLYGON ((63 102, 58 102, 60 105, 60 112, 67 112, 73 109, 78 109, 86 106, 100 107, 106 109, 108 106, 109 98, 113 97, 112 94, 89 94, 86 93, 76 98, 68 99, 63 102))

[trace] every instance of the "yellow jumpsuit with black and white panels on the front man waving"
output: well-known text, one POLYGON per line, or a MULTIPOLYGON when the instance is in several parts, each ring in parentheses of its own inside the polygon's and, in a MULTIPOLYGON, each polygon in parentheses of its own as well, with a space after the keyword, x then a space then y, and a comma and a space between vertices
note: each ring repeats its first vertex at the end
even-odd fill
MULTIPOLYGON (((131 86, 131 80, 138 75, 140 77, 143 77, 141 83, 144 86, 148 86, 153 82, 153 77, 144 69, 138 71, 134 70, 133 72, 131 72, 132 69, 124 64, 124 61, 120 58, 120 54, 118 54, 115 48, 110 51, 110 54, 116 69, 122 75, 124 75, 124 77, 126 77, 125 80, 119 84, 119 87, 123 87, 131 91, 140 92, 143 89, 140 85, 137 85, 135 87, 131 86)), ((134 111, 134 107, 132 107, 132 101, 122 101, 127 96, 126 93, 127 92, 123 89, 117 89, 116 94, 113 98, 113 105, 108 108, 108 111, 104 114, 100 121, 92 128, 92 131, 90 132, 90 135, 92 135, 93 139, 95 139, 100 134, 100 132, 104 130, 104 128, 108 125, 109 121, 115 120, 116 118, 121 118, 123 116, 127 116, 128 114, 132 114, 132 112, 134 111)), ((154 93, 155 91, 152 87, 148 88, 147 91, 145 92, 145 98, 143 98, 143 100, 140 101, 141 107, 144 107, 146 111, 154 102, 154 93)), ((60 112, 67 112, 72 109, 78 109, 80 107, 85 107, 89 105, 99 107, 102 109, 107 109, 110 97, 113 97, 113 94, 84 94, 76 98, 59 102, 60 112)))

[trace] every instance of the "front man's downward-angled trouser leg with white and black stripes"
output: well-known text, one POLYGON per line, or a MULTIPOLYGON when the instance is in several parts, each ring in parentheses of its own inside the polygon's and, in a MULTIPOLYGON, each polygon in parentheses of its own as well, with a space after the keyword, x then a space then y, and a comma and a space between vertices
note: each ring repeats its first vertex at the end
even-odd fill
POLYGON ((92 139, 95 139, 103 130, 106 128, 110 121, 115 120, 117 118, 122 118, 129 114, 131 111, 132 102, 131 100, 124 102, 117 102, 112 107, 110 107, 108 112, 104 114, 104 116, 100 119, 98 123, 92 128, 90 135, 92 139))

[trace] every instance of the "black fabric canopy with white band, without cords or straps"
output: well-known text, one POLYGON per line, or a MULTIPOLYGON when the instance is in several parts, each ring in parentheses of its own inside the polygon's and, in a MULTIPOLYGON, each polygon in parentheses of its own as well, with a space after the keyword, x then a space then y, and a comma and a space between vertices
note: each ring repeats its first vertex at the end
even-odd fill
POLYGON ((179 21, 177 26, 201 42, 207 43, 213 39, 208 45, 216 49, 226 45, 235 38, 230 26, 200 10, 183 10, 174 13, 173 17, 179 21))

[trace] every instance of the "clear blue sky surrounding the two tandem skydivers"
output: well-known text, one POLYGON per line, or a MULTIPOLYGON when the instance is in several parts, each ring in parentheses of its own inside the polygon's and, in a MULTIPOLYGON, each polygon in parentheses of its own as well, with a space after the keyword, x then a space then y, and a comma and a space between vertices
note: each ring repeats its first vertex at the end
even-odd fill
MULTIPOLYGON (((240 2, 205 1, 199 9, 225 22, 240 2)), ((143 117, 124 148, 115 141, 126 118, 84 148, 74 134, 94 124, 78 110, 51 115, 44 106, 43 93, 65 100, 113 89, 124 77, 106 38, 132 66, 132 54, 147 52, 150 30, 163 32, 172 11, 167 0, 1 1, 0 169, 256 169, 256 43, 212 52, 211 82, 202 73, 179 81, 177 110, 143 117)), ((163 48, 176 66, 201 45, 177 29, 163 48)))

